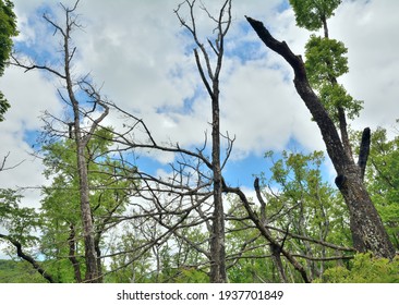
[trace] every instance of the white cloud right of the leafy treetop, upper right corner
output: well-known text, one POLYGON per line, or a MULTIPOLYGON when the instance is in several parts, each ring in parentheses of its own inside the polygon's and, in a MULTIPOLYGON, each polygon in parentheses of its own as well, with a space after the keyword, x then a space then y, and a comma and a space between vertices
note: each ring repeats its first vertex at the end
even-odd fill
POLYGON ((364 110, 354 127, 390 129, 399 117, 398 1, 344 1, 330 22, 330 35, 348 47, 350 72, 342 82, 364 110))

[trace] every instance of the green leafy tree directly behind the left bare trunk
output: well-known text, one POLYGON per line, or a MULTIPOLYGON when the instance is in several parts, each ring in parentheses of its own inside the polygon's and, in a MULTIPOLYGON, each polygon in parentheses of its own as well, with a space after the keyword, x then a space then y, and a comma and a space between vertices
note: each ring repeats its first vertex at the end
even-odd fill
MULTIPOLYGON (((84 244, 75 145, 73 139, 64 139, 44 147, 45 174, 52 178, 52 183, 44 188, 41 249, 52 261, 53 274, 60 282, 82 282, 82 273, 86 270, 82 259, 84 244)), ((107 155, 110 145, 110 132, 101 129, 95 132, 85 152, 100 276, 104 235, 117 221, 116 216, 125 210, 128 190, 136 186, 133 178, 120 179, 119 168, 122 166, 107 155)))

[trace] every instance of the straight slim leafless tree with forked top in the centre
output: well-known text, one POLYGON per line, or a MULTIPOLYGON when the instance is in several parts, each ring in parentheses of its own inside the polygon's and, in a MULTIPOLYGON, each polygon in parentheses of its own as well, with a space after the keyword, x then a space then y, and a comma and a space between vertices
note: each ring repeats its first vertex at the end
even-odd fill
POLYGON ((207 49, 198 37, 195 22, 195 0, 182 2, 176 10, 176 14, 181 23, 192 35, 196 48, 194 49, 195 62, 201 80, 209 95, 211 102, 211 170, 213 170, 213 187, 214 187, 214 215, 210 237, 210 281, 226 282, 226 249, 225 249, 225 212, 222 203, 222 178, 220 162, 220 109, 219 109, 219 76, 225 53, 225 37, 231 24, 231 0, 226 0, 219 11, 218 16, 213 16, 205 7, 202 10, 207 13, 210 20, 216 24, 216 39, 211 41, 207 39, 207 49), (180 9, 185 4, 189 7, 189 21, 185 21, 180 9), (210 62, 210 52, 216 56, 216 64, 213 68, 210 62), (202 60, 205 62, 203 64, 202 60))

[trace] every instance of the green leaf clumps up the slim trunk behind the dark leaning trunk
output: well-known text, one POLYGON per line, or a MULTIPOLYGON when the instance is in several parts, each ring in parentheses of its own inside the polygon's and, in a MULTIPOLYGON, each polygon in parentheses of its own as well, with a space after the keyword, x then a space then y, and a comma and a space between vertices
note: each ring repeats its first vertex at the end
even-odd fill
POLYGON ((340 4, 340 0, 290 0, 295 12, 297 24, 309 30, 325 28, 325 36, 311 35, 305 46, 305 68, 312 87, 317 90, 321 101, 331 119, 339 122, 339 111, 348 118, 359 117, 363 101, 353 99, 337 78, 348 73, 348 49, 343 42, 327 35, 327 19, 340 4))

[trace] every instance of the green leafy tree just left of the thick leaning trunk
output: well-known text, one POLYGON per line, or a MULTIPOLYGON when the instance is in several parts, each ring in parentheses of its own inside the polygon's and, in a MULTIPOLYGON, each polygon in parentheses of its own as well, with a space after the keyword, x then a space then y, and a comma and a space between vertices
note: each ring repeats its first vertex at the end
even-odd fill
POLYGON ((344 256, 344 252, 327 244, 351 246, 349 215, 342 198, 322 178, 324 155, 282 151, 281 158, 274 160, 269 151, 266 158, 273 164, 270 179, 264 179, 270 190, 265 194, 268 215, 273 216, 274 227, 287 228, 287 232, 301 236, 290 239, 286 248, 303 257, 310 277, 317 278, 324 272, 328 257, 337 257, 339 263, 339 257, 344 256))

